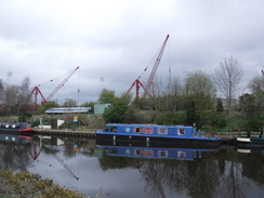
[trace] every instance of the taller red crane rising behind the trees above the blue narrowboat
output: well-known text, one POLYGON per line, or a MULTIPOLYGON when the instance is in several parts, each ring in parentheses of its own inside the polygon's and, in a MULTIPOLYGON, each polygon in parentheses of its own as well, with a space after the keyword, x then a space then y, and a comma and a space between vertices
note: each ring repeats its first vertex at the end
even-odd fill
MULTIPOLYGON (((150 74, 150 76, 149 76, 149 78, 148 78, 147 85, 146 85, 146 87, 143 85, 143 83, 140 81, 140 78, 141 78, 141 77, 138 77, 138 78, 132 83, 132 85, 129 88, 129 90, 127 91, 127 93, 126 93, 124 96, 127 96, 127 95, 129 94, 129 92, 132 90, 132 88, 133 88, 134 85, 135 85, 135 90, 136 90, 136 93, 135 93, 135 96, 136 96, 136 97, 140 96, 140 88, 141 88, 141 87, 144 89, 144 91, 145 91, 145 95, 149 94, 149 88, 150 88, 150 85, 153 84, 154 77, 155 77, 155 75, 156 75, 157 68, 158 68, 158 66, 159 66, 159 63, 160 63, 160 60, 161 60, 161 57, 162 57, 162 54, 163 54, 163 51, 164 51, 164 48, 166 48, 166 44, 167 44, 167 41, 168 41, 169 37, 170 37, 170 36, 167 35, 166 40, 164 40, 164 42, 163 42, 163 44, 162 44, 162 47, 161 47, 161 50, 160 50, 160 52, 159 52, 159 54, 158 54, 158 57, 157 57, 157 60, 156 60, 156 62, 155 62, 154 68, 153 68, 153 70, 151 70, 151 74, 150 74)), ((146 69, 145 69, 145 70, 146 70, 146 69)))

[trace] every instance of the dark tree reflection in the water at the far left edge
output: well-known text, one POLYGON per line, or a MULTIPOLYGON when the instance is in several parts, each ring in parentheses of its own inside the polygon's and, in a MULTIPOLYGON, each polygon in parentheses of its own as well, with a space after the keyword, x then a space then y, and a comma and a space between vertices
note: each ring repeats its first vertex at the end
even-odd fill
POLYGON ((0 142, 0 169, 26 170, 30 162, 30 144, 0 142))

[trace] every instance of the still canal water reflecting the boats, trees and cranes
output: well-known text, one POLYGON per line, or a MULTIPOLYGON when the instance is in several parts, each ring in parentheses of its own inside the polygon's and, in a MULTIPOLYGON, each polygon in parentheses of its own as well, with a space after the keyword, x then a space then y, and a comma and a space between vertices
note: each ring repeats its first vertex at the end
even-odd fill
POLYGON ((264 150, 0 134, 0 167, 107 198, 264 197, 264 150))

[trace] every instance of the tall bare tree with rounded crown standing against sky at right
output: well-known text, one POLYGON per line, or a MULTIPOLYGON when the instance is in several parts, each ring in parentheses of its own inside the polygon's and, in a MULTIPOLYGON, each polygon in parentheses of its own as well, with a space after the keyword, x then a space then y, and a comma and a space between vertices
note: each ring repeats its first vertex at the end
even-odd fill
POLYGON ((227 108, 232 110, 232 102, 242 90, 243 69, 233 56, 220 62, 215 69, 215 82, 220 92, 227 98, 227 108))

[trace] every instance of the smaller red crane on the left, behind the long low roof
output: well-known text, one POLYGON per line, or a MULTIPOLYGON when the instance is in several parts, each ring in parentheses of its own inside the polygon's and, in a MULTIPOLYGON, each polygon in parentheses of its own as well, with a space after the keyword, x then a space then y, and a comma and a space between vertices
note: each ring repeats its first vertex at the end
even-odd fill
MULTIPOLYGON (((38 87, 35 87, 34 89, 32 89, 32 92, 31 92, 31 94, 30 94, 30 96, 29 96, 29 98, 32 96, 32 94, 34 94, 34 105, 35 105, 35 107, 37 107, 37 105, 38 105, 38 100, 37 100, 37 96, 38 96, 38 94, 40 94, 40 96, 41 96, 41 98, 42 98, 42 102, 43 103, 47 103, 66 82, 67 82, 67 80, 75 74, 75 71, 76 70, 78 70, 79 69, 79 66, 78 67, 76 67, 72 71, 70 71, 70 74, 56 87, 56 89, 45 98, 44 96, 43 96, 43 94, 41 93, 41 91, 40 91, 40 89, 38 88, 38 87)), ((53 80, 51 80, 51 81, 53 81, 53 80)))

